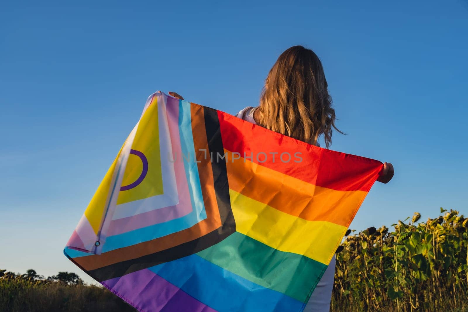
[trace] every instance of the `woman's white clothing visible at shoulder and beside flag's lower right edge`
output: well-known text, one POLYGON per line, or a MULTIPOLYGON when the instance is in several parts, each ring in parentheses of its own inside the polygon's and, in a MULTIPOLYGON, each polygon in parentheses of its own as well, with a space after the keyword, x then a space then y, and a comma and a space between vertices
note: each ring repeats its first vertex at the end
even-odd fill
MULTIPOLYGON (((254 120, 254 110, 255 108, 249 106, 245 109, 242 109, 236 116, 248 121, 249 123, 257 124, 254 120)), ((320 146, 317 142, 317 146, 320 146)), ((310 296, 309 301, 304 309, 304 312, 329 312, 330 311, 330 301, 331 301, 331 292, 333 290, 333 281, 335 278, 335 255, 330 261, 328 268, 323 273, 322 278, 315 287, 312 296, 310 296)))

